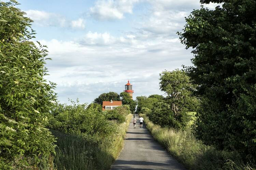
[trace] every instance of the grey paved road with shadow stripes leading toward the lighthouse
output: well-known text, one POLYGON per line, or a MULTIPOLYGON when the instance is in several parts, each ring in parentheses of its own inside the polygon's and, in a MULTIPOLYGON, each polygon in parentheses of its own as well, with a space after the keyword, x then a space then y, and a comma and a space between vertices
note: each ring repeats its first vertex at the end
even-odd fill
POLYGON ((170 154, 154 140, 144 125, 143 129, 140 129, 139 118, 136 118, 136 129, 133 129, 133 124, 130 122, 126 133, 124 148, 111 169, 185 170, 183 165, 171 157, 170 154))

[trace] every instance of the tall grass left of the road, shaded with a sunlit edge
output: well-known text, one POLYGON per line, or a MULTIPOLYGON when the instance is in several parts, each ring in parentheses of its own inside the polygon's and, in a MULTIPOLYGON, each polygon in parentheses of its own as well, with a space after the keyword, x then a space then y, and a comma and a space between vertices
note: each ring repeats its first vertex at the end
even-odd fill
POLYGON ((82 136, 63 134, 52 130, 57 137, 54 164, 63 170, 105 170, 122 150, 126 130, 132 114, 126 116, 126 122, 117 123, 116 133, 104 136, 96 142, 82 136))

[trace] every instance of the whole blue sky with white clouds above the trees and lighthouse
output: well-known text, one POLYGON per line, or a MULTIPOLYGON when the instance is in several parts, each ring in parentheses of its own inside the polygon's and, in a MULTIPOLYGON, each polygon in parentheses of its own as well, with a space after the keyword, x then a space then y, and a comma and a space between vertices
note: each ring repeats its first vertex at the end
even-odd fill
MULTIPOLYGON (((48 47, 45 79, 57 83, 60 103, 91 103, 118 94, 130 80, 133 99, 159 90, 159 73, 191 65, 177 31, 199 0, 19 0, 34 22, 33 41, 48 47)), ((204 4, 214 9, 217 4, 204 4)))

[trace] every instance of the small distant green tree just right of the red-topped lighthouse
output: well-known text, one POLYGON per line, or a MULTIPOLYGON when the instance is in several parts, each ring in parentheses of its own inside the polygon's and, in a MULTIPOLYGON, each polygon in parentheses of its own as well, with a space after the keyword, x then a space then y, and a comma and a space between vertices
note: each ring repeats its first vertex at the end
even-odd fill
POLYGON ((151 110, 153 108, 153 104, 159 101, 157 98, 148 98, 146 96, 138 96, 136 97, 136 100, 138 103, 136 113, 140 113, 143 107, 147 107, 151 110))

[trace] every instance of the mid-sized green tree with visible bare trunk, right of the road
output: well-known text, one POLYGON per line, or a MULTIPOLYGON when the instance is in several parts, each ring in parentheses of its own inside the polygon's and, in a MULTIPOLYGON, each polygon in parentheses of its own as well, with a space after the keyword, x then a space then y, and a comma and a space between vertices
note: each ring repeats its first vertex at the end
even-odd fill
POLYGON ((160 73, 159 80, 160 90, 166 93, 166 102, 170 104, 174 118, 188 112, 191 104, 197 104, 197 99, 190 90, 193 85, 184 71, 179 69, 174 71, 165 70, 160 73))

